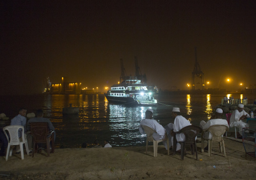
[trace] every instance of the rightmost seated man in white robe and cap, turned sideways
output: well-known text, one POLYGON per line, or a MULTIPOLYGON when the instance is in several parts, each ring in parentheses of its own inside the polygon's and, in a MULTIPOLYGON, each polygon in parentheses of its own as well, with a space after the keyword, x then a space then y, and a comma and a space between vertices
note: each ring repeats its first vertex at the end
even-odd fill
POLYGON ((242 128, 243 127, 249 127, 249 124, 243 122, 242 120, 247 119, 247 117, 250 117, 244 110, 243 104, 238 104, 238 108, 232 113, 230 117, 229 125, 230 127, 238 127, 239 133, 242 135, 242 128))

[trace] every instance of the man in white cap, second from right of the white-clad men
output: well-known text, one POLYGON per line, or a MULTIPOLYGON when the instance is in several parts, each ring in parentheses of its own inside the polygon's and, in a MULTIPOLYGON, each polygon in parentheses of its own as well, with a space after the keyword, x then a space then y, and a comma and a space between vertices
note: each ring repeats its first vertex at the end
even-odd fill
POLYGON ((206 131, 212 125, 225 125, 229 128, 227 120, 226 119, 221 119, 222 114, 223 114, 223 110, 218 108, 215 111, 215 117, 214 118, 211 118, 209 121, 207 121, 207 123, 205 121, 200 122, 200 127, 204 131, 204 134, 203 134, 204 139, 210 139, 210 140, 212 139, 211 132, 206 131))

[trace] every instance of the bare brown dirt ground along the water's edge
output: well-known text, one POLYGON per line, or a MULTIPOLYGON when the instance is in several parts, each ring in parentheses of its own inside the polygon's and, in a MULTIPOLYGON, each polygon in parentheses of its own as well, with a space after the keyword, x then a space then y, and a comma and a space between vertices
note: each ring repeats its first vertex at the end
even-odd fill
MULTIPOLYGON (((200 141, 200 138, 198 139, 200 141)), ((167 155, 163 145, 153 157, 153 146, 55 149, 35 156, 20 154, 0 157, 0 179, 255 179, 256 161, 246 156, 240 139, 225 138, 226 157, 213 144, 212 156, 167 155)), ((159 143, 161 144, 161 143, 159 143)))

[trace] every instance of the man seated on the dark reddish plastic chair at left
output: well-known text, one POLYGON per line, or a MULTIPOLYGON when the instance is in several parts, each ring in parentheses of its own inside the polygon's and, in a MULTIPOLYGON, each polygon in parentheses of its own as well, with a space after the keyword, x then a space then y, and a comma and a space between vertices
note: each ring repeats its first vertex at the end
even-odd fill
MULTIPOLYGON (((31 119, 28 120, 28 124, 27 124, 28 131, 30 131, 30 126, 31 126, 30 123, 31 122, 47 122, 49 130, 54 131, 54 127, 53 127, 50 119, 43 117, 43 110, 42 109, 36 110, 35 115, 36 115, 36 117, 31 118, 31 119)), ((55 137, 56 137, 56 133, 54 131, 54 141, 55 141, 55 137)), ((41 149, 41 144, 38 144, 38 147, 39 147, 39 149, 41 149)))

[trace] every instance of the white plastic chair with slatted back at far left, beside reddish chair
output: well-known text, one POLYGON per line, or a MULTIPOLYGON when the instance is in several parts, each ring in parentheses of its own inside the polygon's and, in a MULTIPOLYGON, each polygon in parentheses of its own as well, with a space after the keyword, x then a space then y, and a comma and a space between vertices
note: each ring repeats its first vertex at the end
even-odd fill
POLYGON ((8 156, 12 156, 12 153, 13 153, 13 149, 10 149, 11 145, 20 145, 21 159, 24 159, 23 144, 25 143, 26 151, 27 151, 27 154, 29 155, 28 141, 27 141, 27 139, 25 139, 24 127, 23 126, 21 126, 21 125, 11 125, 11 126, 4 127, 3 130, 4 130, 4 132, 6 134, 6 138, 8 140, 6 161, 8 160, 8 156), (22 141, 20 141, 20 138, 19 138, 19 129, 22 129, 22 141), (9 138, 6 130, 9 132, 10 138, 9 138))

